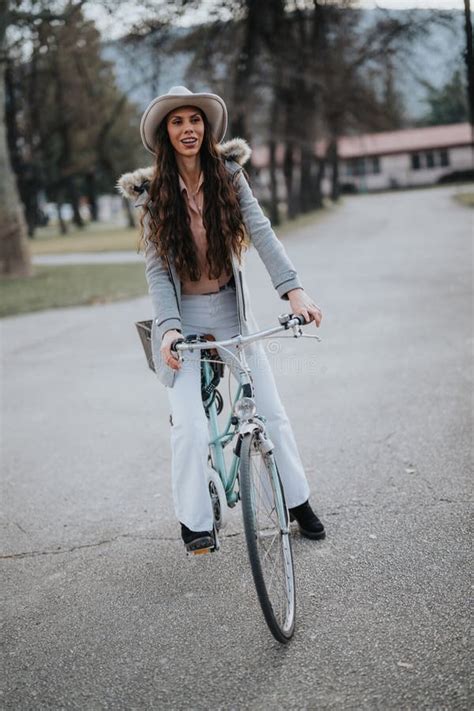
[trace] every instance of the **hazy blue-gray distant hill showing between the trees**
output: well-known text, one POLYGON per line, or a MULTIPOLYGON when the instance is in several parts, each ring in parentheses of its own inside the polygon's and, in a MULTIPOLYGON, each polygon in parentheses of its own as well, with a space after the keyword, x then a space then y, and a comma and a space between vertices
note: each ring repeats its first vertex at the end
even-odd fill
MULTIPOLYGON (((425 10, 417 14, 426 16, 425 10)), ((364 11, 364 23, 372 24, 376 10, 364 11)), ((403 10, 392 14, 406 14, 403 10)), ((397 67, 396 82, 405 102, 409 120, 415 122, 426 112, 424 99, 426 90, 423 80, 431 82, 436 87, 442 86, 459 66, 465 47, 463 13, 455 12, 453 29, 447 27, 432 27, 424 38, 413 47, 410 55, 403 58, 397 67)), ((183 37, 188 30, 177 28, 168 38, 171 43, 176 37, 183 37)), ((166 49, 166 41, 165 41, 166 49)), ((105 43, 104 57, 115 65, 117 82, 129 99, 144 109, 151 99, 160 93, 165 93, 171 86, 185 83, 185 74, 190 61, 190 55, 182 52, 165 58, 156 67, 157 56, 152 44, 143 40, 140 49, 131 50, 122 40, 105 43)), ((200 86, 201 90, 211 89, 200 86)))

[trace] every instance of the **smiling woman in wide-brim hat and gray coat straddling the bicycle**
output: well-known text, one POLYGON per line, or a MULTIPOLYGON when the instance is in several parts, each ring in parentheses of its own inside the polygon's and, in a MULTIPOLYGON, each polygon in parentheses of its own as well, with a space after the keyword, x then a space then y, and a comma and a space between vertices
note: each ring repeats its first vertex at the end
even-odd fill
MULTIPOLYGON (((249 242, 291 312, 316 326, 322 318, 245 178, 242 165, 250 149, 240 139, 222 144, 226 128, 227 110, 219 96, 173 87, 150 103, 141 120, 142 141, 155 155, 153 168, 119 181, 124 194, 139 194, 135 205, 143 207, 153 361, 171 408, 173 499, 183 541, 194 549, 209 547, 213 536, 206 478, 208 421, 199 352, 180 362, 171 344, 191 334, 222 340, 258 329, 244 273, 249 242)), ((290 513, 302 535, 324 538, 261 343, 252 344, 249 355, 256 405, 267 420, 290 513)))

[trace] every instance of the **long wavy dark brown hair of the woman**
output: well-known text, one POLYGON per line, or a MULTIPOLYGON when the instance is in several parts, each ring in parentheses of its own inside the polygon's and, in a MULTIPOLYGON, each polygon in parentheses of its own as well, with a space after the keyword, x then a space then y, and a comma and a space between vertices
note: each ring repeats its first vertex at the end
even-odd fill
MULTIPOLYGON (((221 273, 232 272, 231 253, 240 260, 242 250, 249 244, 232 176, 220 156, 206 115, 204 137, 200 150, 203 172, 203 224, 207 236, 209 277, 217 279, 221 273)), ((191 233, 190 219, 178 179, 174 148, 168 136, 167 117, 160 123, 155 141, 156 162, 150 181, 152 201, 151 229, 147 238, 156 246, 161 257, 174 259, 181 279, 197 281, 201 277, 197 252, 191 233)), ((141 239, 144 237, 142 215, 141 239)))

